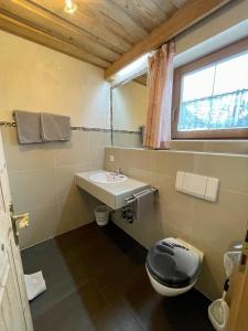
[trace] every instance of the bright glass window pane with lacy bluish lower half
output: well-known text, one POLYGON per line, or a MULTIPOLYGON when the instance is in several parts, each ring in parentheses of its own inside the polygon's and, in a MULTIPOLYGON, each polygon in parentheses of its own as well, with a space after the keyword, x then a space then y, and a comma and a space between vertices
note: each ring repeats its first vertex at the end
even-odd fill
POLYGON ((177 129, 248 128, 248 54, 183 77, 177 129))

